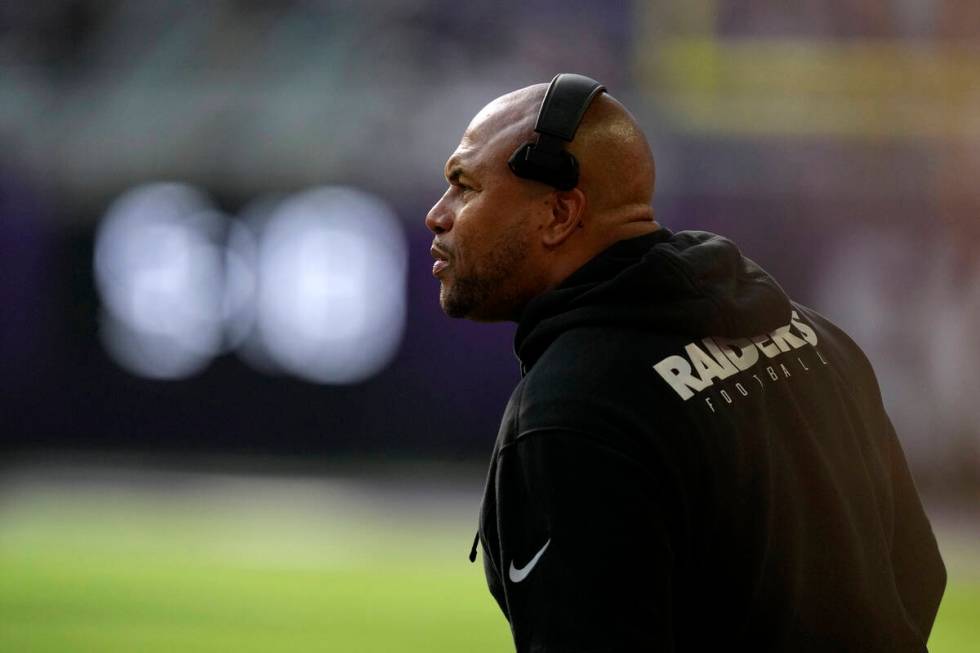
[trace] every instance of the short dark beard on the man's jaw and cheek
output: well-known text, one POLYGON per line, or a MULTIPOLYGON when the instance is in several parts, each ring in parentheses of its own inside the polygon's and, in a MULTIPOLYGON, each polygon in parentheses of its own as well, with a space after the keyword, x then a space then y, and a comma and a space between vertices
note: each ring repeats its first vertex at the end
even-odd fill
POLYGON ((449 317, 513 319, 520 310, 519 298, 517 289, 508 285, 527 257, 527 250, 527 242, 521 235, 504 234, 478 271, 456 276, 457 270, 452 270, 452 283, 443 283, 439 289, 442 310, 449 317))

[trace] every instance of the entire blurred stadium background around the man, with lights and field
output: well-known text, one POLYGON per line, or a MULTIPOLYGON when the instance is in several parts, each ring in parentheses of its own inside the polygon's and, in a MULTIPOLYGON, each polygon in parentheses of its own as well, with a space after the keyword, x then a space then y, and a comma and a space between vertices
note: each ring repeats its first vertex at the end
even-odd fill
POLYGON ((0 650, 510 650, 512 327, 442 316, 422 219, 560 71, 868 352, 976 650, 980 4, 791 4, 0 2, 0 650))

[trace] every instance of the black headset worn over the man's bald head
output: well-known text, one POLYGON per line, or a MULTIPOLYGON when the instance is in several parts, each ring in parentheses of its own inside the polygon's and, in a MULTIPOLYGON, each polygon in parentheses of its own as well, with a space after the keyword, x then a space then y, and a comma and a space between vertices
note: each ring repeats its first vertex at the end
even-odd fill
POLYGON ((578 185, 578 160, 565 150, 565 143, 572 142, 585 110, 595 96, 605 90, 605 86, 585 75, 555 75, 534 124, 537 141, 524 143, 507 161, 514 174, 544 182, 558 190, 575 188, 578 185))

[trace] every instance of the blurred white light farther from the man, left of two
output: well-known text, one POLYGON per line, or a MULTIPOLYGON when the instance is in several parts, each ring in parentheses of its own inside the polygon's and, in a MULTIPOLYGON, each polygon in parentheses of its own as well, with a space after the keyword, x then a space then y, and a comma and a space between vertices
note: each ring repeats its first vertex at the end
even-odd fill
POLYGON ((122 366, 179 379, 219 353, 224 222, 182 184, 140 186, 109 208, 95 278, 106 309, 103 341, 122 366))

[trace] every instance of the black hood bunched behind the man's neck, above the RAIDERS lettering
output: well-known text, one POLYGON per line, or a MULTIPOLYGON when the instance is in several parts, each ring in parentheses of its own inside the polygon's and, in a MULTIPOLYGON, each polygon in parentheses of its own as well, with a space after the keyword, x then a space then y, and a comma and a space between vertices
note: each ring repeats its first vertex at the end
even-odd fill
POLYGON ((790 300, 735 244, 705 231, 615 243, 528 303, 514 350, 530 369, 563 332, 629 326, 691 338, 743 338, 790 321, 790 300))

